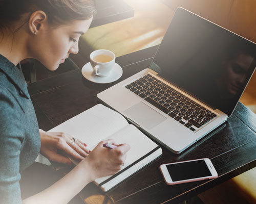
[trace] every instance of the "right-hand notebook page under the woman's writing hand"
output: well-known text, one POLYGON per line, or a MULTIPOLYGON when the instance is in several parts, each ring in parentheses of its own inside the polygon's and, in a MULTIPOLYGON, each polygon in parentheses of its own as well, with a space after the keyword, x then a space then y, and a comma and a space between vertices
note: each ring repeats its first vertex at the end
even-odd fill
MULTIPOLYGON (((118 144, 127 143, 131 146, 131 149, 127 151, 127 157, 122 169, 134 163, 158 146, 155 142, 153 142, 150 138, 140 132, 137 127, 132 124, 123 127, 123 129, 116 132, 109 138, 114 139, 118 144)), ((109 177, 111 176, 105 176, 96 179, 95 183, 100 184, 109 177)))

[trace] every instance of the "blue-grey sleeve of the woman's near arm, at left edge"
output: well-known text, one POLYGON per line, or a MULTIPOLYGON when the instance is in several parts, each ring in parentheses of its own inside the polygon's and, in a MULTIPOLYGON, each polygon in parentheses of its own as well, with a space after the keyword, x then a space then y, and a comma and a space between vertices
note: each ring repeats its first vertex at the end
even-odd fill
POLYGON ((0 203, 22 203, 19 187, 19 155, 22 147, 20 116, 15 98, 0 87, 0 203))

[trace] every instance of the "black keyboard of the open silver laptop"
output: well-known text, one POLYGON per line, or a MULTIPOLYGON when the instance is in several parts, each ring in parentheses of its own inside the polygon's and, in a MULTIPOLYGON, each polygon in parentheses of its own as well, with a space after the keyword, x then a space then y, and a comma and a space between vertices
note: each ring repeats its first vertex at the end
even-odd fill
POLYGON ((217 117, 215 113, 156 79, 151 74, 144 75, 144 77, 126 85, 125 88, 193 132, 217 117))

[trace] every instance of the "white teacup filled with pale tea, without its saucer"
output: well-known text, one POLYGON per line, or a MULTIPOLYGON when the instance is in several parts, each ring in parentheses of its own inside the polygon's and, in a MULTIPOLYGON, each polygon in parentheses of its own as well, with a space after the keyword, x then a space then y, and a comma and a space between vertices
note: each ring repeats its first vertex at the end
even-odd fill
POLYGON ((98 49, 91 53, 90 63, 93 73, 98 77, 108 77, 115 65, 116 56, 107 49, 98 49))

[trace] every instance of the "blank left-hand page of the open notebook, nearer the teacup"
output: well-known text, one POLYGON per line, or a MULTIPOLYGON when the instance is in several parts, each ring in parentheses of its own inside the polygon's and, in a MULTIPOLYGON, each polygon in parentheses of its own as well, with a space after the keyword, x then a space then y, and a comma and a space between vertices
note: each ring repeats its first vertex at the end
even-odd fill
POLYGON ((91 149, 101 140, 110 137, 126 125, 128 122, 121 114, 98 104, 59 124, 50 131, 66 132, 88 144, 91 149))

